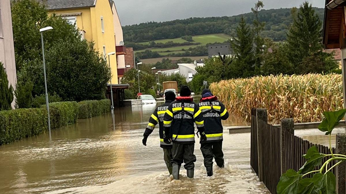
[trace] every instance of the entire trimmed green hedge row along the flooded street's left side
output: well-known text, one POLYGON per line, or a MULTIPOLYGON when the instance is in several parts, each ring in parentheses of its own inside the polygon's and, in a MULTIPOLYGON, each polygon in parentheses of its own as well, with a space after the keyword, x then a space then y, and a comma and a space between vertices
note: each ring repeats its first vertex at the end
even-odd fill
MULTIPOLYGON (((50 103, 51 129, 73 124, 79 115, 101 115, 109 111, 109 107, 109 100, 50 103)), ((42 108, 0 111, 0 145, 44 133, 47 128, 48 114, 44 105, 42 108)))

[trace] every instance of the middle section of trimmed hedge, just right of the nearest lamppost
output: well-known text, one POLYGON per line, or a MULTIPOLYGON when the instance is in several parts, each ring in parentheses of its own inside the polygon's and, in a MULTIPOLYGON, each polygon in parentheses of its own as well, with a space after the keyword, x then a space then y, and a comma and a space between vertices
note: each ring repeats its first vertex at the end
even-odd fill
MULTIPOLYGON (((45 105, 42 105, 44 108, 45 105)), ((78 103, 76 101, 49 103, 51 115, 51 128, 59 128, 74 124, 78 116, 78 103)))

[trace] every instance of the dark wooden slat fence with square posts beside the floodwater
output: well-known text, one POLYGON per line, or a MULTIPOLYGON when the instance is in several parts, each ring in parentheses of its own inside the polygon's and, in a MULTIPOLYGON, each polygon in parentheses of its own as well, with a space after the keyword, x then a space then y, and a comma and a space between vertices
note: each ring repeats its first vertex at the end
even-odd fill
MULTIPOLYGON (((306 154, 310 147, 316 146, 323 154, 330 154, 330 151, 327 146, 312 144, 308 140, 295 136, 293 119, 282 119, 281 126, 276 127, 267 124, 266 116, 265 109, 252 110, 250 164, 260 181, 271 193, 276 194, 276 185, 279 183, 280 176, 288 169, 298 171, 306 162, 303 154, 306 154)), ((336 153, 335 148, 332 150, 336 153)), ((327 158, 324 158, 322 164, 326 160, 327 158)), ((331 162, 329 167, 335 163, 336 161, 331 162)), ((336 171, 337 168, 332 170, 337 175, 336 171)), ((345 180, 340 181, 340 183, 344 182, 345 180)))

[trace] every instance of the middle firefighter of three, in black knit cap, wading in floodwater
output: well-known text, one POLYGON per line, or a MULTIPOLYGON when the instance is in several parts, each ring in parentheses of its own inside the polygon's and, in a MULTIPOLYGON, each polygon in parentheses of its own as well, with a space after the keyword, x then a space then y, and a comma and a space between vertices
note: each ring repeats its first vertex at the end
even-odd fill
POLYGON ((180 166, 184 162, 187 176, 193 178, 194 162, 194 123, 197 125, 201 141, 207 137, 204 134, 204 120, 197 103, 193 102, 191 91, 187 86, 180 89, 180 97, 176 97, 166 110, 163 118, 164 142, 173 141, 172 167, 173 178, 179 180, 180 166))

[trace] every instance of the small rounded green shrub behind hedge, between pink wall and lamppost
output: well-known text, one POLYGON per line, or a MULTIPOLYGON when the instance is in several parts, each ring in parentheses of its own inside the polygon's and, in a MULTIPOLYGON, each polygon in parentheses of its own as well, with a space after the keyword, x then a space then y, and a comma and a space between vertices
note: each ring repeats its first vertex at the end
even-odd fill
POLYGON ((16 86, 16 108, 31 108, 33 101, 33 96, 31 92, 33 91, 34 84, 32 81, 18 81, 16 86))

